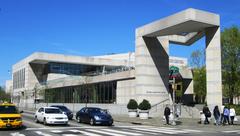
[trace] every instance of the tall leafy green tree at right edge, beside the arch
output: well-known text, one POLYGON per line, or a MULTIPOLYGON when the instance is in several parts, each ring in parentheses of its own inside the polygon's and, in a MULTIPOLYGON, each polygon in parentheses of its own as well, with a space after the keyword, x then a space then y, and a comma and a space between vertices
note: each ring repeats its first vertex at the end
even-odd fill
POLYGON ((237 26, 224 29, 221 33, 223 94, 230 98, 239 96, 240 79, 240 30, 237 26))

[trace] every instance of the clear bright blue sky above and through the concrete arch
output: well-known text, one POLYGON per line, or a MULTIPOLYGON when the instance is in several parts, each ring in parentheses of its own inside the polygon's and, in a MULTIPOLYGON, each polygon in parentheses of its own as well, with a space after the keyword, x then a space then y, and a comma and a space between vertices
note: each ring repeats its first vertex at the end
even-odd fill
MULTIPOLYGON (((240 23, 239 0, 0 0, 0 85, 33 52, 81 56, 134 51, 135 28, 186 8, 218 13, 221 29, 240 23)), ((204 47, 170 46, 189 58, 204 47)))

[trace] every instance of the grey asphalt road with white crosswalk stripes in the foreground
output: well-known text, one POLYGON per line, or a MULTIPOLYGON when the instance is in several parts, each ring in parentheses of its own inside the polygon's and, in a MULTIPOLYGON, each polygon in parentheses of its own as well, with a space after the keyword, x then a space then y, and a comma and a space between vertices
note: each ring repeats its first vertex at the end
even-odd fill
POLYGON ((50 125, 35 123, 32 114, 23 114, 24 127, 19 130, 1 130, 0 136, 239 136, 240 130, 203 131, 201 129, 180 129, 156 127, 115 122, 114 126, 90 126, 75 120, 69 125, 50 125))

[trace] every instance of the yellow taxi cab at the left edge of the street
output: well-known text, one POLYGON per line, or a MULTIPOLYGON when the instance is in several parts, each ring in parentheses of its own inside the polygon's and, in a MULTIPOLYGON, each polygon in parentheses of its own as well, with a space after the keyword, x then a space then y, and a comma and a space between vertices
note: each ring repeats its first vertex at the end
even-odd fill
POLYGON ((21 128, 22 116, 12 103, 0 103, 0 128, 21 128))

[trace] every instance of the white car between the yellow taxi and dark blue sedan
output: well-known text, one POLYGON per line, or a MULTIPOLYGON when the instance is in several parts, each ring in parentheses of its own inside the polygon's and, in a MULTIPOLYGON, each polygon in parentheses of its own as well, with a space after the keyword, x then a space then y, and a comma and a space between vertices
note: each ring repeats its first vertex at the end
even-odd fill
POLYGON ((60 109, 55 107, 42 107, 35 113, 35 122, 47 124, 68 124, 68 117, 60 109))

